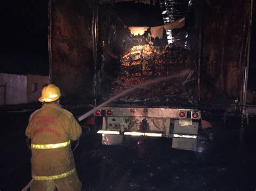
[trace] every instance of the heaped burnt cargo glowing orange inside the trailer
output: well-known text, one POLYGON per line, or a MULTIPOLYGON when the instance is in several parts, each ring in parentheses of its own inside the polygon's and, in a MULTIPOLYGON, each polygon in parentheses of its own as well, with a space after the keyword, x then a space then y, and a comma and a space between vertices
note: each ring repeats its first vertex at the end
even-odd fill
MULTIPOLYGON (((106 95, 116 96, 123 91, 152 81, 147 87, 113 101, 113 104, 184 107, 197 104, 197 80, 193 75, 190 54, 187 49, 175 46, 140 45, 131 48, 120 59, 118 77, 106 95), (191 69, 187 76, 154 83, 153 79, 177 74, 182 69, 191 69)), ((107 100, 104 96, 103 100, 107 100)))

